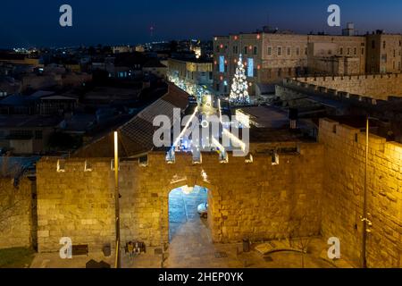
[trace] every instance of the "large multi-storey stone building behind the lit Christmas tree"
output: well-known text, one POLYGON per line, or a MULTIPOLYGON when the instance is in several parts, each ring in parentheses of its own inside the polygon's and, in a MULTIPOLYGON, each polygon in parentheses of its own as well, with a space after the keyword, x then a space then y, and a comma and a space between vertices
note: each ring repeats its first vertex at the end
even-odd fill
POLYGON ((261 31, 214 37, 214 89, 219 95, 230 93, 239 54, 246 65, 251 95, 255 95, 257 83, 279 83, 286 77, 401 71, 401 35, 380 31, 350 35, 261 31))

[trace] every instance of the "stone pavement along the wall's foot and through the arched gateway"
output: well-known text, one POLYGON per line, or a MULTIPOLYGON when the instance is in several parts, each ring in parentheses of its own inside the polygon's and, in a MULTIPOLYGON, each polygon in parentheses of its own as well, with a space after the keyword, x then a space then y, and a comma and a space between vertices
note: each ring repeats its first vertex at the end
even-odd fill
MULTIPOLYGON (((206 201, 206 189, 195 188, 190 194, 181 189, 171 192, 170 205, 170 246, 163 254, 162 248, 147 248, 147 253, 130 260, 121 250, 121 267, 124 268, 330 268, 348 267, 344 261, 333 264, 326 261, 325 253, 329 246, 322 238, 313 238, 307 254, 292 251, 272 252, 262 255, 255 250, 254 244, 248 253, 242 252, 242 244, 214 244, 205 218, 197 214, 197 206, 206 201), (163 259, 165 257, 165 259, 163 259)), ((274 242, 276 245, 283 245, 274 242)), ((85 267, 89 259, 104 260, 114 264, 113 257, 104 257, 102 253, 90 256, 60 259, 58 253, 38 254, 31 267, 85 267)))

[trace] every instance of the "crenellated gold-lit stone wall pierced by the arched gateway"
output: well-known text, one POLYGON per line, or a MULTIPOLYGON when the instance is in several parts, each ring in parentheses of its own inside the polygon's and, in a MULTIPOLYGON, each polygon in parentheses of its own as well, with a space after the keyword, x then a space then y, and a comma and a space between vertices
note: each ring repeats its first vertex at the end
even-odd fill
MULTIPOLYGON (((322 146, 301 144, 299 154, 255 154, 252 164, 231 157, 219 164, 215 154, 203 154, 202 164, 177 154, 166 164, 153 152, 147 166, 121 162, 121 242, 143 240, 148 246, 168 242, 168 196, 183 185, 209 189, 209 223, 215 242, 317 235, 321 228, 322 146)), ((73 244, 99 250, 114 241, 113 172, 110 161, 96 159, 92 172, 84 161, 71 159, 65 172, 57 160, 38 164, 39 251, 56 251, 63 236, 73 244)))

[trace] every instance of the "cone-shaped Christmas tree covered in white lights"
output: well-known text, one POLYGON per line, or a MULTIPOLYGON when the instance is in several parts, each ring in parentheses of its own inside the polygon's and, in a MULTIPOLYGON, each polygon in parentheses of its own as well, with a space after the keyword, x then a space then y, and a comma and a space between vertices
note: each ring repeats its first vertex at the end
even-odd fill
POLYGON ((247 105, 250 103, 248 96, 248 84, 246 80, 246 71, 244 69, 243 58, 240 54, 238 67, 231 83, 230 89, 230 103, 234 105, 247 105))

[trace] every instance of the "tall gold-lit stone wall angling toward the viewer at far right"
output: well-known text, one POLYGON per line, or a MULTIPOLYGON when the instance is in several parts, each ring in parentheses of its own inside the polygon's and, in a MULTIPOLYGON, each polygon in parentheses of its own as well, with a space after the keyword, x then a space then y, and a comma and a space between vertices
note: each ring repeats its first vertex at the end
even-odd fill
MULTIPOLYGON (((365 133, 320 121, 326 172, 322 189, 322 234, 339 237, 341 256, 360 265, 365 133)), ((373 222, 367 239, 369 267, 402 267, 402 145, 370 136, 367 206, 373 222)))

